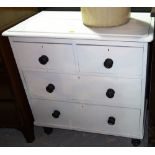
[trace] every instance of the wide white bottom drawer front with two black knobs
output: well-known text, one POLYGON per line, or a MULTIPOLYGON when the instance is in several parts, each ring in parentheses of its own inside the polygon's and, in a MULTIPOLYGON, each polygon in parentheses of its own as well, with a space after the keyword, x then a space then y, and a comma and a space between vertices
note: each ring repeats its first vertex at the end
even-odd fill
POLYGON ((127 137, 139 136, 140 111, 31 100, 35 124, 127 137), (59 112, 59 115, 56 115, 59 112))

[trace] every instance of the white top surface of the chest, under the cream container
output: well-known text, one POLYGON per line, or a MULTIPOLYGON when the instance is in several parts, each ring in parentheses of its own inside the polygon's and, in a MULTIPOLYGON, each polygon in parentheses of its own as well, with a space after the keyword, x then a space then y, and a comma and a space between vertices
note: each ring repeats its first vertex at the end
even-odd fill
POLYGON ((83 24, 80 12, 42 11, 2 35, 150 42, 153 29, 154 18, 150 17, 150 13, 131 13, 129 22, 121 26, 91 28, 83 24))

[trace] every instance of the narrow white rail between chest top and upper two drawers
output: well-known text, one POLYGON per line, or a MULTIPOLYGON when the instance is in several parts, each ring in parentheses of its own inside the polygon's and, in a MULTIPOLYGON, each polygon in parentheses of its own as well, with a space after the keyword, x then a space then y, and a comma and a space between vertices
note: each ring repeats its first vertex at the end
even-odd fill
POLYGON ((85 45, 100 45, 100 46, 121 46, 121 47, 144 47, 144 42, 131 41, 108 41, 108 40, 84 40, 84 39, 69 39, 69 38, 42 38, 42 37, 9 37, 11 42, 26 42, 26 43, 61 43, 61 44, 85 44, 85 45))

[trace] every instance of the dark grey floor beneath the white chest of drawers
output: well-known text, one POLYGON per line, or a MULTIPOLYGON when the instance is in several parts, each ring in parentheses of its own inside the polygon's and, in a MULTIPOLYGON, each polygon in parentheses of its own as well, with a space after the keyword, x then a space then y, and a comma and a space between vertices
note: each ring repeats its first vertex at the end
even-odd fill
MULTIPOLYGON (((131 139, 102 134, 54 129, 46 135, 42 127, 35 126, 35 141, 26 143, 22 133, 16 129, 0 129, 0 146, 10 147, 131 147, 131 139)), ((147 146, 147 126, 141 147, 147 146)))

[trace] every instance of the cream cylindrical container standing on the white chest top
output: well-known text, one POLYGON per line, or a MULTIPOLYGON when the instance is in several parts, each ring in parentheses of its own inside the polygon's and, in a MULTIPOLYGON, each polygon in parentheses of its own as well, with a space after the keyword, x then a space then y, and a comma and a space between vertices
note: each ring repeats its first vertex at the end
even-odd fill
POLYGON ((129 7, 81 7, 82 20, 87 26, 112 27, 128 22, 129 7))

